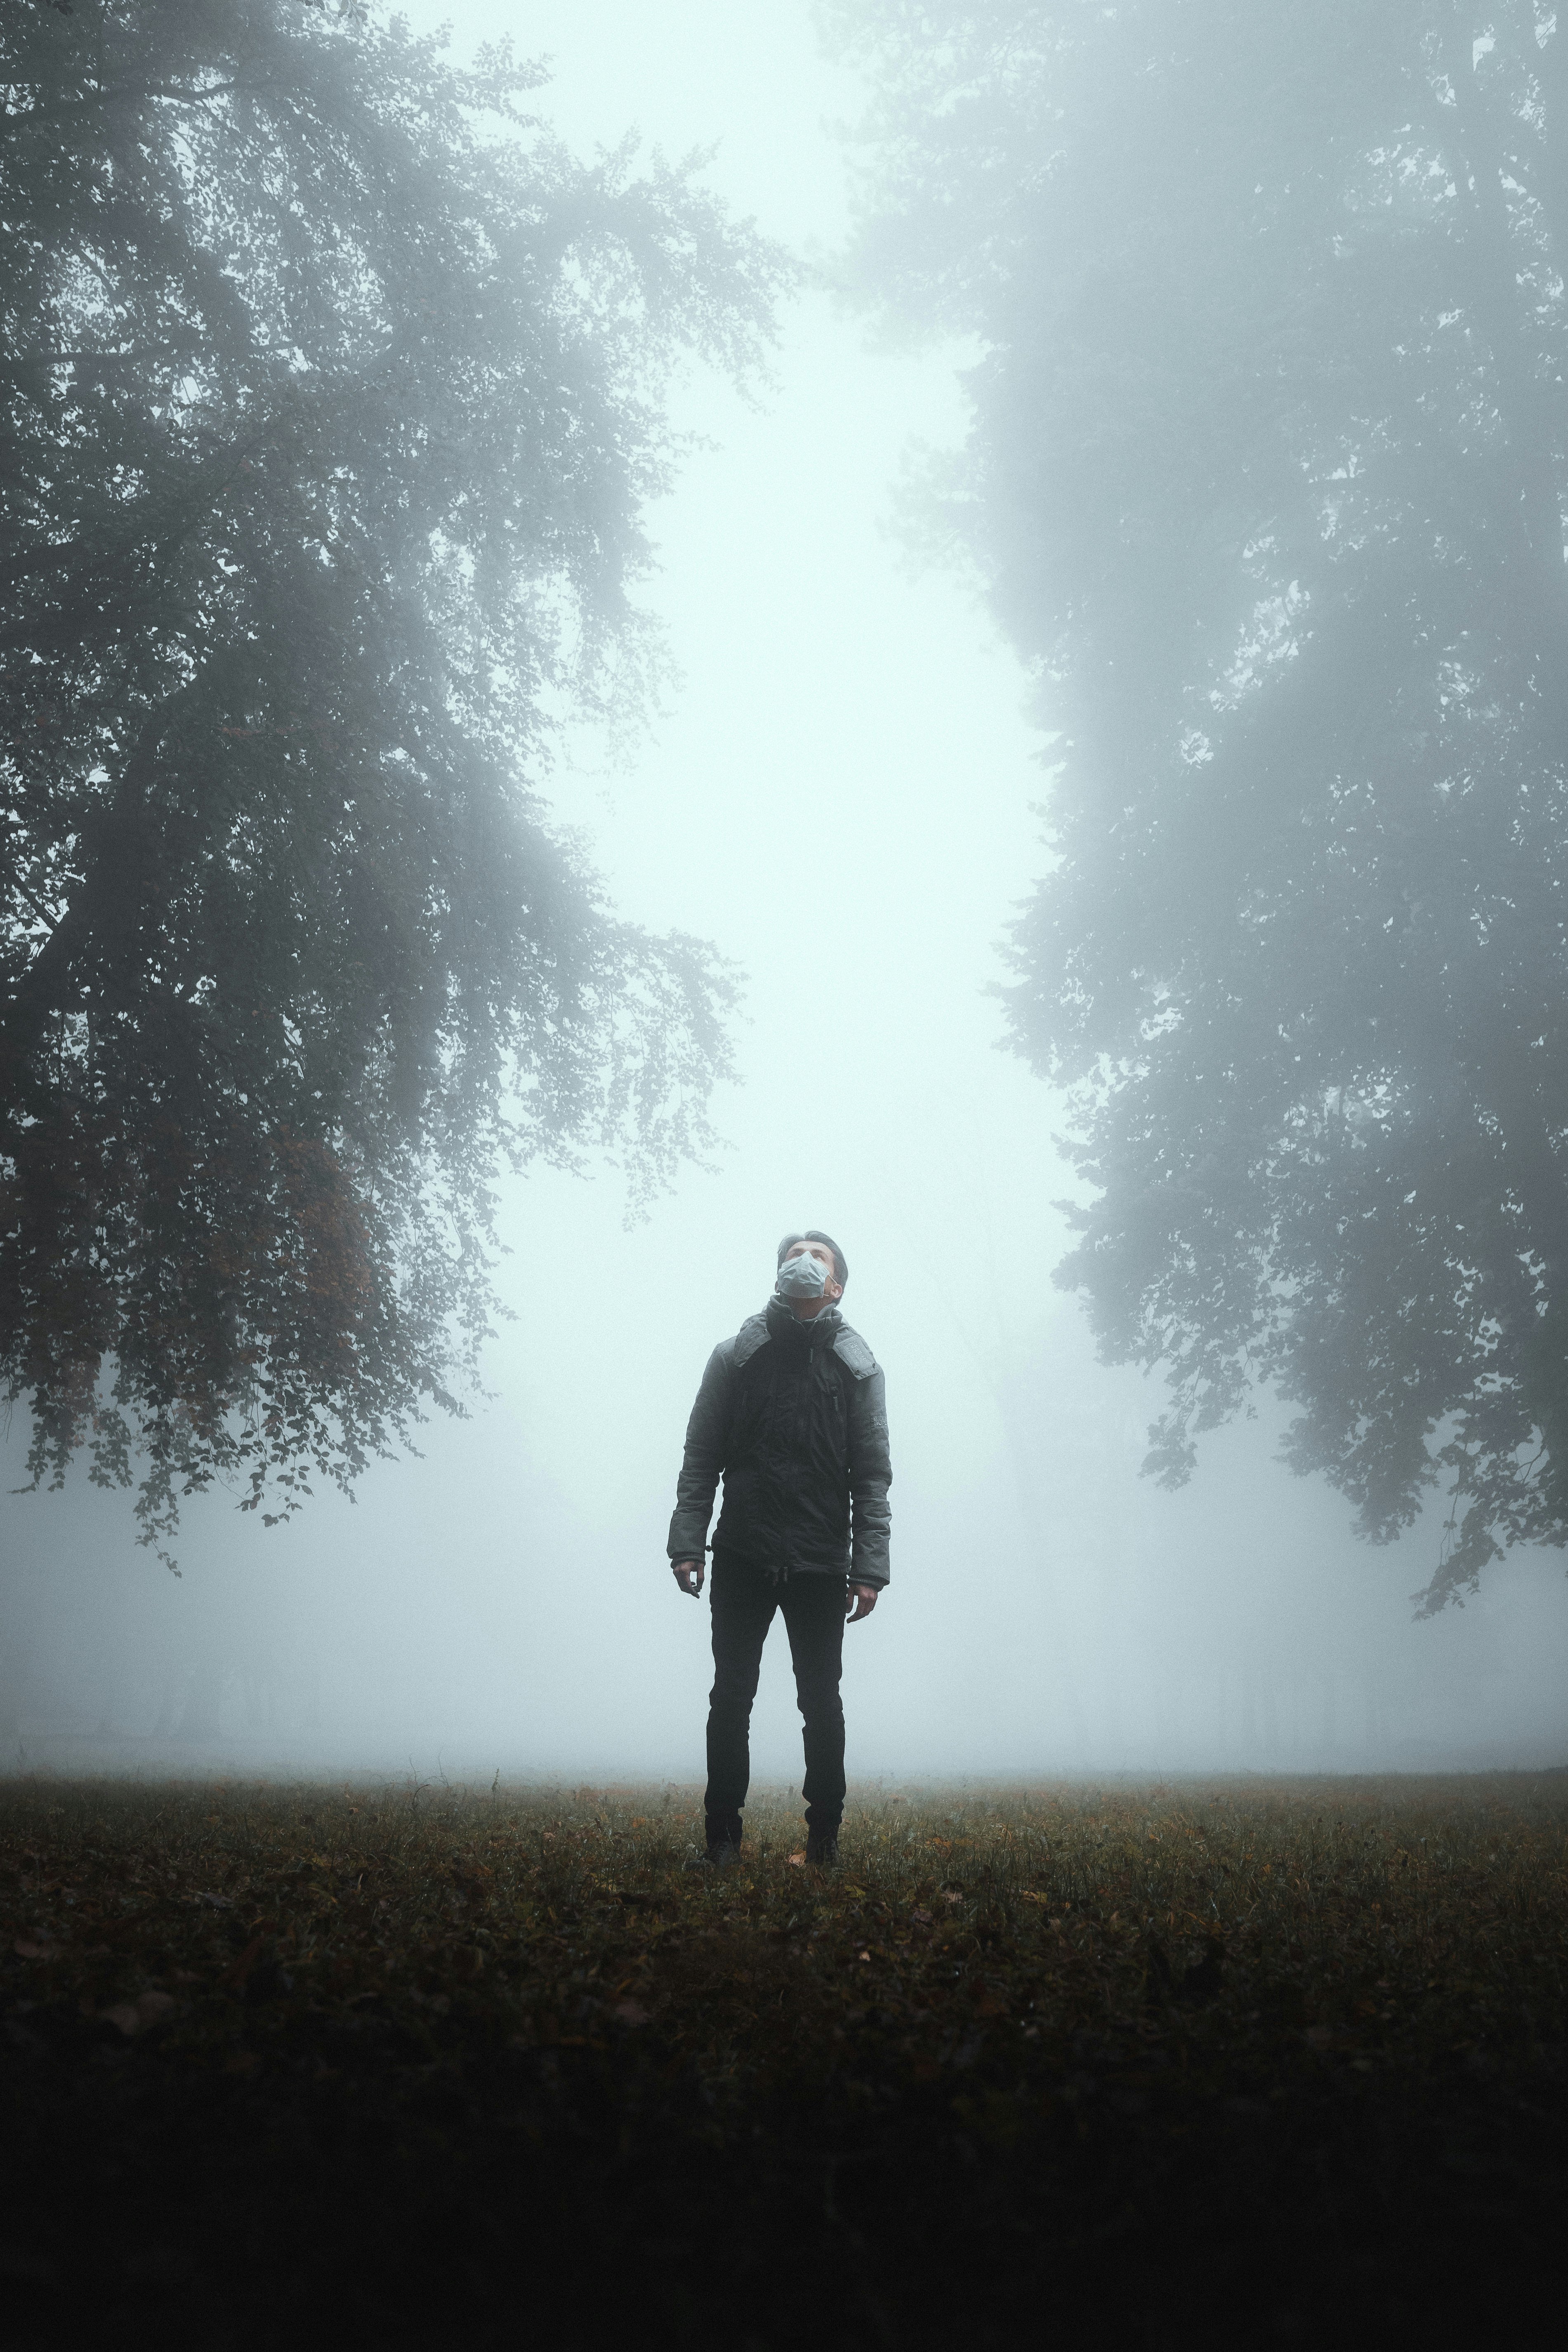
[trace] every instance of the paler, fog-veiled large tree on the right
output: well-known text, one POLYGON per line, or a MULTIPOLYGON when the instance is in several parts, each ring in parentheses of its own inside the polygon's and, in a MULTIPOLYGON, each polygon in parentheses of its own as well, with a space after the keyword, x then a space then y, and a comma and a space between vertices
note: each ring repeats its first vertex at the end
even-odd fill
POLYGON ((858 275, 978 339, 926 494, 1039 677, 1013 1037, 1063 1268, 1253 1383, 1427 1606, 1568 1541, 1568 19, 1535 0, 844 0, 858 275))

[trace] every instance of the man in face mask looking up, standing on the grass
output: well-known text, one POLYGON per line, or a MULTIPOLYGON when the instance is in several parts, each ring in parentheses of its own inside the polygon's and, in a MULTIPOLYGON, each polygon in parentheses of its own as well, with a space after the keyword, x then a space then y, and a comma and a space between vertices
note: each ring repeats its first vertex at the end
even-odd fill
POLYGON ((844 1621, 867 1618, 889 1581, 893 1477, 882 1371, 839 1315, 846 1282, 830 1235, 788 1232, 773 1296, 712 1350, 686 1425, 670 1566, 693 1599, 724 1477, 708 1705, 708 1860, 719 1865, 741 1858, 752 1698, 776 1609, 804 1722, 806 1860, 839 1858, 844 1621))

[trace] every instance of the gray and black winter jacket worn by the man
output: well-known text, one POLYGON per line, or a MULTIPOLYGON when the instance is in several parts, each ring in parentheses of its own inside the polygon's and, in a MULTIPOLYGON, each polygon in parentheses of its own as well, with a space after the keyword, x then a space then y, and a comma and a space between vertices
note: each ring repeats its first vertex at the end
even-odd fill
POLYGON ((686 1423, 670 1559, 703 1557, 719 1477, 715 1548, 776 1576, 886 1585, 886 1390, 877 1357, 837 1308, 804 1322, 769 1298, 708 1357, 686 1423))

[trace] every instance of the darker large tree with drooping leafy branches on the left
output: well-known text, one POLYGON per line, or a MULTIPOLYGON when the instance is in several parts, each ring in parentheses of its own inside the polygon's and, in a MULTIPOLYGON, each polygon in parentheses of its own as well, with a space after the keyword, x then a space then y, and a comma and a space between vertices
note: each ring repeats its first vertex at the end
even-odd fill
POLYGON ((496 1167, 658 1183, 724 1070, 726 967, 536 790, 658 675, 663 388, 780 263, 538 80, 308 0, 0 14, 0 1390, 155 1536, 451 1402, 496 1167))

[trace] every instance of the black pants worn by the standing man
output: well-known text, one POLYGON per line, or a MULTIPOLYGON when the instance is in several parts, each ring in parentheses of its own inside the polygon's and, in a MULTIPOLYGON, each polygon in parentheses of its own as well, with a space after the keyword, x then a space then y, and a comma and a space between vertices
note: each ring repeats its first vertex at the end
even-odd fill
POLYGON ((708 1835, 738 1837, 752 1785, 752 1698, 762 1644, 783 1609, 804 1717, 806 1823, 837 1830, 844 1818, 844 1576, 780 1576, 733 1552, 712 1555, 712 1696, 708 1700, 708 1835))

